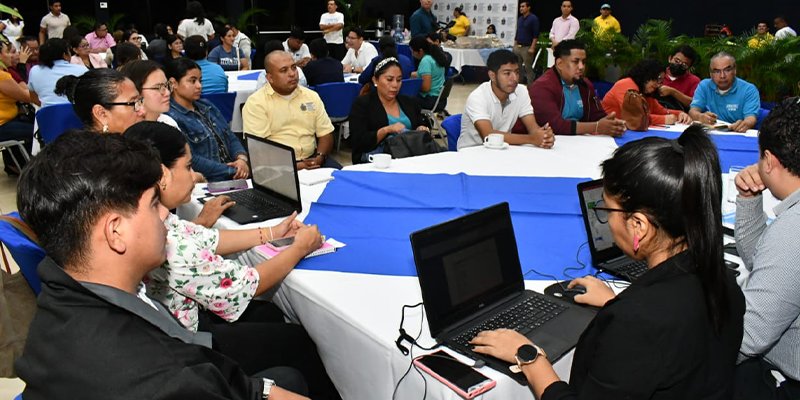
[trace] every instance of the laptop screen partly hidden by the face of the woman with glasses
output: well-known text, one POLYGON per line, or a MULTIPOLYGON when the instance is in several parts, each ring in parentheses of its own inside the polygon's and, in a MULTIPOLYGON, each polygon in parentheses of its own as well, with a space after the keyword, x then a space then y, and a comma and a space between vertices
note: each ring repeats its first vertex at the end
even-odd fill
POLYGON ((611 235, 608 221, 599 221, 593 210, 595 206, 605 207, 603 205, 603 181, 598 179, 580 183, 578 193, 594 263, 598 264, 621 256, 622 250, 614 244, 614 237, 611 235))

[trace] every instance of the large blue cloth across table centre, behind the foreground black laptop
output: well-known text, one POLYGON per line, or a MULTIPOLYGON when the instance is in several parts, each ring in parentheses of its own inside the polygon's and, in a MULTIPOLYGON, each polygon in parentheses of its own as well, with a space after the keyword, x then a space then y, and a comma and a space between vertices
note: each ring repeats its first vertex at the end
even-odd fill
POLYGON ((347 247, 298 268, 416 276, 411 232, 502 201, 511 208, 525 272, 562 278, 565 268, 577 265, 577 250, 586 242, 576 186, 587 179, 353 171, 333 176, 305 221, 347 247))

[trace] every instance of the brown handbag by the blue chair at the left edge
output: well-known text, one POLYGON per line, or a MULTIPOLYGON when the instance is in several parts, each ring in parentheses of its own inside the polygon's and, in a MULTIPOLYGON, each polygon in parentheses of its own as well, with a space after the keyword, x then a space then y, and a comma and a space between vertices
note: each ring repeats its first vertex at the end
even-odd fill
MULTIPOLYGON (((21 231, 35 241, 32 231, 24 229, 27 228, 24 222, 8 216, 0 219, 15 227, 22 226, 21 231)), ((28 328, 36 312, 36 296, 21 272, 11 273, 2 242, 0 256, 5 267, 5 271, 0 270, 0 377, 15 378, 14 361, 25 348, 28 328)))

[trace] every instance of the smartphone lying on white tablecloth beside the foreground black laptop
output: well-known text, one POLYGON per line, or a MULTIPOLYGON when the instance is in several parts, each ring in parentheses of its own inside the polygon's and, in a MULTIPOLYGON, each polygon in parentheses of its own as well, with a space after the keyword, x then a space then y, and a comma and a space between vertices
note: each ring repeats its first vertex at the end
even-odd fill
POLYGON ((497 385, 497 382, 442 350, 415 358, 414 365, 464 399, 472 399, 497 385))

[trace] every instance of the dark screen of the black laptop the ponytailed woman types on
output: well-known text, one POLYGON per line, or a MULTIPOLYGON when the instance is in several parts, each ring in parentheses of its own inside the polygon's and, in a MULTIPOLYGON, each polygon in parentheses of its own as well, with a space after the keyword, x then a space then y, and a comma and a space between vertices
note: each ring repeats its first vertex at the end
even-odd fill
POLYGON ((431 335, 524 290, 508 203, 411 234, 431 335))

